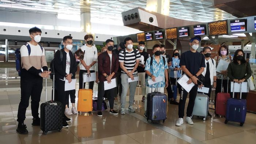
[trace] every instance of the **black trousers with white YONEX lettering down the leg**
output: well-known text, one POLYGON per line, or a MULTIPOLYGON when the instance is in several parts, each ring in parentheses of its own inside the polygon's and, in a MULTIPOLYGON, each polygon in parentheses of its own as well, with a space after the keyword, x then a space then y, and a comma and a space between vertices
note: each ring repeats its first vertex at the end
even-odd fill
MULTIPOLYGON (((190 91, 189 91, 189 101, 188 101, 188 108, 187 108, 187 117, 191 117, 193 108, 195 105, 195 99, 197 94, 197 85, 195 85, 190 91)), ((184 90, 183 87, 181 87, 181 95, 180 95, 180 103, 179 103, 179 118, 184 117, 184 110, 185 110, 185 104, 187 100, 188 92, 184 90)))

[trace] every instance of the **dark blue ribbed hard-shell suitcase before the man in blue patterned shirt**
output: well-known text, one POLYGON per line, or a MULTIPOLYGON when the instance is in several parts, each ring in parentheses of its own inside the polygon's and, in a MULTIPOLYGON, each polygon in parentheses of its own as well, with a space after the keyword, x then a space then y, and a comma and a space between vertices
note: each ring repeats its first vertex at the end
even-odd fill
POLYGON ((147 95, 147 120, 163 121, 166 120, 166 99, 167 96, 161 92, 151 92, 147 95))

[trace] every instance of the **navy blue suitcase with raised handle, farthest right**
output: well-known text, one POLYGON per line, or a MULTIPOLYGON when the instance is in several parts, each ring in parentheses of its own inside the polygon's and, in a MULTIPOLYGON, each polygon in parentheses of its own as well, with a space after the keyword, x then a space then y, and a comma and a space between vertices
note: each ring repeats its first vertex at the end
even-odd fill
POLYGON ((244 125, 246 118, 246 99, 242 99, 241 83, 240 83, 240 99, 234 98, 234 86, 233 86, 233 98, 227 100, 226 120, 240 122, 240 126, 244 125))

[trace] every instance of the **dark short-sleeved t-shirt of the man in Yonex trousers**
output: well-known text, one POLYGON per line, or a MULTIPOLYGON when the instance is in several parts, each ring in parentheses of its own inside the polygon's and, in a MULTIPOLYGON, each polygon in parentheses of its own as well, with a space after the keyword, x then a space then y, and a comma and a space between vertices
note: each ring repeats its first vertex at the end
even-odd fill
POLYGON ((184 52, 180 56, 180 66, 185 65, 188 71, 195 75, 200 68, 205 68, 204 56, 199 52, 184 52))

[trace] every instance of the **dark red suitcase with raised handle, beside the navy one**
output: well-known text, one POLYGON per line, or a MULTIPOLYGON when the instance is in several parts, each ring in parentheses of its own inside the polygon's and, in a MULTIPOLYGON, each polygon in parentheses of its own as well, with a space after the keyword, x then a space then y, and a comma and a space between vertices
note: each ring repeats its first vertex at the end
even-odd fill
MULTIPOLYGON (((222 75, 222 81, 223 81, 223 75, 222 75)), ((222 90, 222 81, 221 81, 221 90, 222 90)), ((228 86, 229 86, 229 79, 227 79, 227 93, 219 92, 217 94, 215 112, 218 115, 222 115, 222 116, 226 115, 227 100, 230 98, 228 86)))

